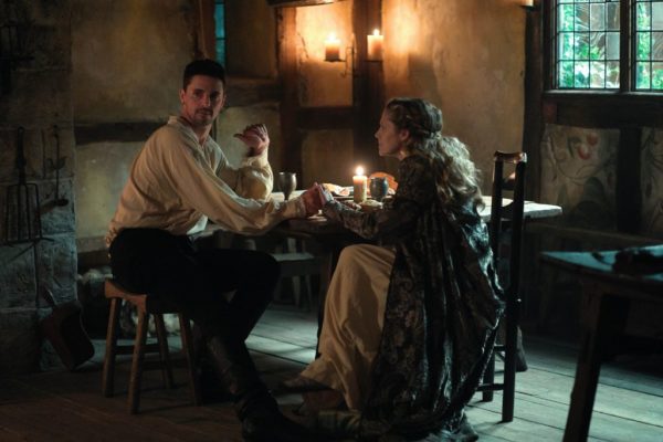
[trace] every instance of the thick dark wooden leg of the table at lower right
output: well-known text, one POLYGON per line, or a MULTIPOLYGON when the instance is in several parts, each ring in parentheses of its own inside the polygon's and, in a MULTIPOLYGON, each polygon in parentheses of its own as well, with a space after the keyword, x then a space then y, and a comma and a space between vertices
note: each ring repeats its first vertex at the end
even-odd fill
POLYGON ((615 335, 623 330, 628 311, 628 299, 601 293, 590 295, 564 442, 587 440, 601 361, 615 335))

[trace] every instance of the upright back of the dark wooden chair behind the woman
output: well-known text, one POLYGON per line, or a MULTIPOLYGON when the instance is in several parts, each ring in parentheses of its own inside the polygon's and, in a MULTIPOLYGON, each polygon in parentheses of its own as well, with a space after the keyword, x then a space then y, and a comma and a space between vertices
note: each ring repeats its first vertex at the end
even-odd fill
MULTIPOLYGON (((525 207, 525 168, 527 154, 503 152, 497 150, 494 156, 493 193, 491 201, 491 221, 488 227, 491 249, 495 269, 507 269, 507 281, 504 290, 507 301, 515 297, 518 302, 520 280, 520 250, 523 243, 523 212, 525 207), (504 165, 514 165, 515 171, 507 177, 504 165), (513 199, 504 204, 504 191, 513 191, 513 199), (505 245, 505 238, 509 236, 505 245), (504 262, 504 260, 508 260, 504 262)), ((503 283, 503 284, 504 284, 503 283)))

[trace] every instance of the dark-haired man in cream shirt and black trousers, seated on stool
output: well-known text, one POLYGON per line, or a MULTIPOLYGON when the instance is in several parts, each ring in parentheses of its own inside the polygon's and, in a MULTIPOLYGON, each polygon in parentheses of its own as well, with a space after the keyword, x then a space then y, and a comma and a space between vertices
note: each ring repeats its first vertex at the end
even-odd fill
POLYGON ((113 274, 128 290, 177 303, 193 319, 246 440, 314 440, 281 414, 244 345, 272 297, 277 263, 255 251, 197 250, 189 238, 208 218, 233 232, 261 232, 319 209, 311 190, 286 202, 269 199, 273 175, 264 125, 235 134, 249 156, 239 169, 229 166, 209 136, 224 86, 223 66, 214 61, 185 69, 180 115, 157 129, 134 160, 110 221, 113 274), (221 296, 231 291, 231 301, 221 296))

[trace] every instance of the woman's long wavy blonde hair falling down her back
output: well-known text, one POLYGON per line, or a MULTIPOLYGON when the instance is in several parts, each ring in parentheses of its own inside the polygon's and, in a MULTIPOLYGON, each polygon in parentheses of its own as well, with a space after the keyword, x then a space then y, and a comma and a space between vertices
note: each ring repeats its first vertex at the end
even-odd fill
POLYGON ((421 98, 392 98, 385 109, 398 129, 410 133, 410 154, 430 161, 444 202, 481 204, 480 171, 460 139, 442 136, 442 112, 438 107, 421 98))

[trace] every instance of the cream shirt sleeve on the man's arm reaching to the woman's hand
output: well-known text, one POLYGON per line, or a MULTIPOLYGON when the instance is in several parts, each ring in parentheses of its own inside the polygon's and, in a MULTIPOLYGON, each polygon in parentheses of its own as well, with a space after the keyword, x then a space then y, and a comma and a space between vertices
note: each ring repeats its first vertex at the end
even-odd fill
MULTIPOLYGON (((238 194, 217 175, 217 170, 212 169, 201 151, 191 146, 181 146, 181 139, 179 143, 172 141, 165 140, 161 145, 161 161, 170 185, 185 206, 206 214, 221 228, 236 233, 262 233, 287 218, 305 217, 306 211, 301 198, 285 202, 269 198, 271 180, 263 179, 262 185, 250 185, 260 180, 248 177, 249 170, 238 172, 233 185, 245 196, 238 194)), ((266 158, 253 159, 257 162, 261 160, 266 162, 266 158)), ((262 172, 255 173, 263 173, 263 178, 266 175, 271 177, 269 165, 267 169, 262 166, 259 168, 262 172)), ((256 170, 253 167, 248 168, 256 170)))

